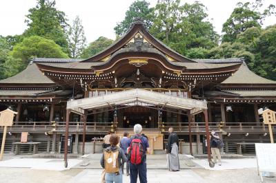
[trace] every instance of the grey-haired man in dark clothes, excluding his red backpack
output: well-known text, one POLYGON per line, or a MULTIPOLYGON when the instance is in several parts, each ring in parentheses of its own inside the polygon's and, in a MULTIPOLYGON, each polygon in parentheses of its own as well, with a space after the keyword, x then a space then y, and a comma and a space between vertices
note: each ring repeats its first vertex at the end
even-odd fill
MULTIPOLYGON (((146 169, 146 153, 150 153, 150 146, 148 144, 148 139, 144 136, 141 136, 142 127, 141 125, 137 124, 133 128, 135 136, 139 137, 141 139, 141 144, 144 151, 144 157, 142 158, 141 164, 132 164, 130 162, 130 183, 137 183, 137 177, 139 175, 140 183, 147 183, 147 169, 146 169)), ((128 140, 128 147, 130 147, 130 144, 132 140, 135 138, 135 136, 132 136, 128 140)))

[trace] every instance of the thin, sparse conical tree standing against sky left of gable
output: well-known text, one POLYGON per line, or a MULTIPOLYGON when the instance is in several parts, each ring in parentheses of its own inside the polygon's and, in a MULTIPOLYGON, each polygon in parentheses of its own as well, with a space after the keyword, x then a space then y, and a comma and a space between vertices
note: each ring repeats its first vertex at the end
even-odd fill
POLYGON ((79 19, 79 16, 75 18, 72 26, 70 26, 68 35, 70 56, 72 58, 77 58, 81 55, 81 52, 86 45, 86 36, 84 36, 83 25, 81 25, 81 19, 79 19))

